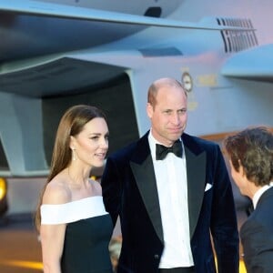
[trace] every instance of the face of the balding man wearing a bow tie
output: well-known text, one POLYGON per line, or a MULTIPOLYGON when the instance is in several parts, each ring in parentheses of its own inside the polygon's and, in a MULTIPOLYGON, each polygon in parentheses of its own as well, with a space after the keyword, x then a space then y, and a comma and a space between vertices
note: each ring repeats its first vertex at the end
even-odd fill
POLYGON ((147 104, 147 116, 151 120, 152 135, 171 146, 187 126, 187 96, 182 88, 164 86, 157 91, 157 103, 147 104))

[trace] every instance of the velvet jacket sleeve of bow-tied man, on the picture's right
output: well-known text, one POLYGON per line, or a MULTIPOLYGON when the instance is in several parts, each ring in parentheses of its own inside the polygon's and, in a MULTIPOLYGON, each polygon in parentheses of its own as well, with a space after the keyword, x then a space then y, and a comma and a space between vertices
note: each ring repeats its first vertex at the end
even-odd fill
POLYGON ((211 234, 217 256, 218 273, 238 272, 239 238, 234 197, 227 166, 221 150, 215 146, 213 157, 214 197, 210 222, 211 234))

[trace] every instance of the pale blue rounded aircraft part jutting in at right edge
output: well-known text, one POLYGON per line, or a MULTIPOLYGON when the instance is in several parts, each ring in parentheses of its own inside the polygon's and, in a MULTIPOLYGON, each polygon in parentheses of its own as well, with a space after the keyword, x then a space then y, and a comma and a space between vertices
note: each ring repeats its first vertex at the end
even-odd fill
POLYGON ((261 45, 242 51, 222 67, 223 76, 273 82, 273 44, 261 45))

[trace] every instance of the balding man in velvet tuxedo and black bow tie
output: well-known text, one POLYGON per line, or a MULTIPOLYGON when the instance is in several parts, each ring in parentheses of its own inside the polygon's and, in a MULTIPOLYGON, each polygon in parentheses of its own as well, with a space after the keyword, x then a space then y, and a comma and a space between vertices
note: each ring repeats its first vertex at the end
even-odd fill
MULTIPOLYGON (((219 147, 184 133, 187 93, 172 78, 148 90, 151 130, 107 158, 106 210, 120 217, 117 272, 238 272, 238 226, 219 147)), ((200 120, 200 122, 206 122, 200 120)))

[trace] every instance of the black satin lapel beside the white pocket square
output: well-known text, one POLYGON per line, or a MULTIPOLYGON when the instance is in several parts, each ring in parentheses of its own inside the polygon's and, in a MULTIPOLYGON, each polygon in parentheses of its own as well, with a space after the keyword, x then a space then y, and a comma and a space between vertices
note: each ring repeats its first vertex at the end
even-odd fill
POLYGON ((206 179, 206 153, 196 156, 185 147, 187 162, 187 198, 189 215, 189 232, 192 238, 204 197, 206 179))

